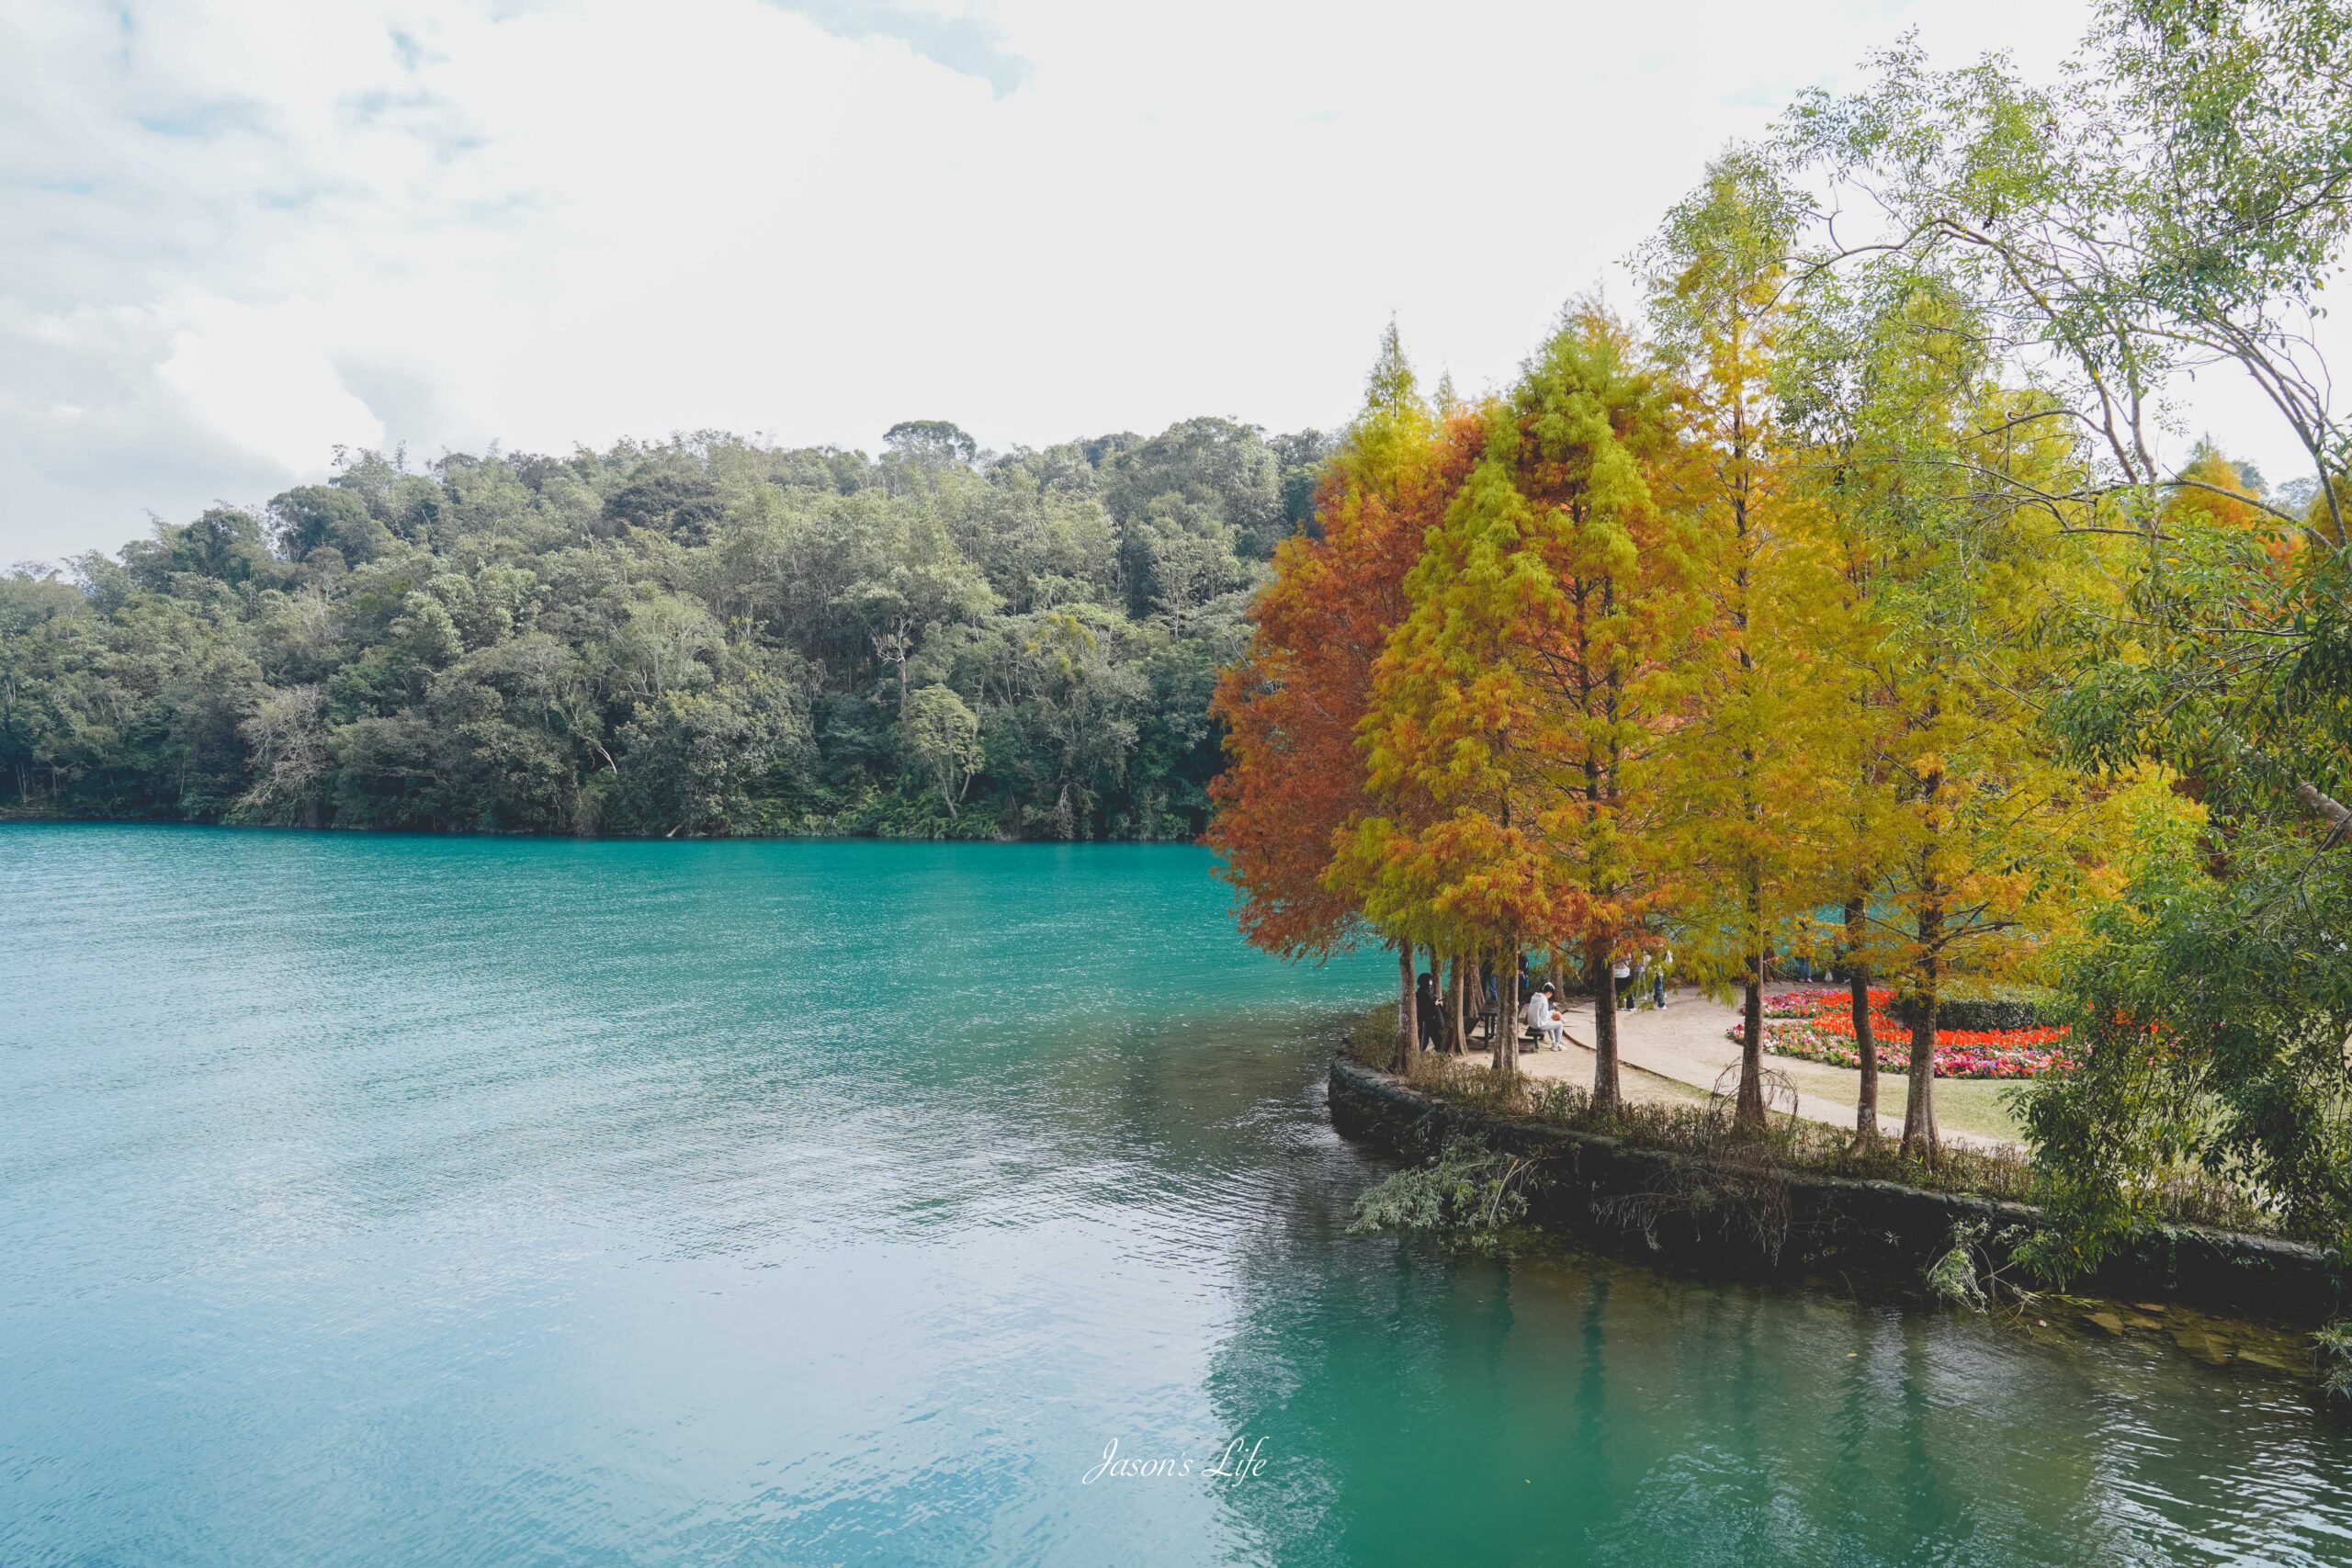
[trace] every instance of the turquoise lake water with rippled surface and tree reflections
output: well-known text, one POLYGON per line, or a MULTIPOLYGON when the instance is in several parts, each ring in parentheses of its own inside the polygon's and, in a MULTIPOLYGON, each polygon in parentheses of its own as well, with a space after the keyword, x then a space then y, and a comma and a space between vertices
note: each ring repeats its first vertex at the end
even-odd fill
POLYGON ((2284 1373, 1348 1237, 1392 971, 1225 905, 0 827, 0 1563, 2352 1561, 2284 1373))

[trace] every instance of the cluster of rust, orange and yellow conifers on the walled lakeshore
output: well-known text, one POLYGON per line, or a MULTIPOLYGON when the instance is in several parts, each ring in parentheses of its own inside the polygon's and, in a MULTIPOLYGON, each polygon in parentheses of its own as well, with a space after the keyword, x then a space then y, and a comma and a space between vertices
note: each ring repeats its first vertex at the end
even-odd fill
MULTIPOLYGON (((1416 954, 1456 999, 1496 976, 1505 1018, 1522 954, 1573 976, 1597 1103, 1621 1088, 1597 976, 1675 947, 1755 1020, 1783 954, 1835 950, 1924 1018, 1877 1039, 1910 1051, 1905 1143, 1933 1150, 1917 1067, 1943 985, 2063 926, 2117 816, 2034 750, 2013 698, 2039 658, 2016 628, 2089 578, 2053 564, 2049 527, 1987 524, 1955 477, 2006 465, 2058 489, 2067 454, 1973 435, 2011 404, 1945 353, 1962 334, 1943 301, 1893 299, 1865 327, 1896 346, 1886 397, 1933 465, 1872 456, 1900 480, 1853 489, 1858 463, 1835 458, 1889 440, 1872 421, 1891 414, 1780 414, 1809 367, 1769 266, 1743 270, 1771 252, 1771 190, 1743 179, 1679 214, 1649 339, 1578 303, 1512 388, 1432 409, 1390 331, 1319 534, 1277 552, 1216 691, 1230 766, 1209 842, 1256 945, 1397 950, 1399 1053, 1416 954)), ((1743 1030, 1743 1124, 1764 1121, 1762 1037, 1743 1030)), ((1496 1072, 1515 1039, 1494 1032, 1496 1072)))

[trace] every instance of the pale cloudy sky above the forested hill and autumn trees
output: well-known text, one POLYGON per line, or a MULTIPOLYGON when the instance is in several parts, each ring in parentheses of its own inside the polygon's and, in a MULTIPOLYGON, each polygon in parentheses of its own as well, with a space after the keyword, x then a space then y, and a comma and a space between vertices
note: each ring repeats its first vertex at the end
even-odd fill
POLYGON ((1463 393, 1795 92, 2079 0, 0 0, 0 562, 334 449, 1463 393))

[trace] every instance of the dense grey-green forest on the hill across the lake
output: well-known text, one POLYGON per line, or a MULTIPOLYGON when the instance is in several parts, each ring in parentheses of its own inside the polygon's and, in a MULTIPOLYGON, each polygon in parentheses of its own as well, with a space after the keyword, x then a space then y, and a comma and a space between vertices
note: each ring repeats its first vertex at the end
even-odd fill
POLYGON ((731 435, 343 454, 0 578, 0 811, 463 832, 1192 837, 1327 442, 731 435))

